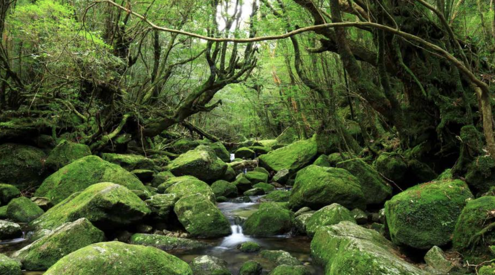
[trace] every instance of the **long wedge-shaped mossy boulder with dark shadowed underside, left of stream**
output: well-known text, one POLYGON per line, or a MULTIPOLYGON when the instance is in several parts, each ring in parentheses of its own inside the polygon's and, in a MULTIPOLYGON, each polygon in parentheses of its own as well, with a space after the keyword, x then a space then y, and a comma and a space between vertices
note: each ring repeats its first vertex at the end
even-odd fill
POLYGON ((131 190, 119 184, 97 183, 53 206, 30 226, 55 229, 86 218, 99 229, 115 229, 135 223, 147 214, 148 207, 131 190))

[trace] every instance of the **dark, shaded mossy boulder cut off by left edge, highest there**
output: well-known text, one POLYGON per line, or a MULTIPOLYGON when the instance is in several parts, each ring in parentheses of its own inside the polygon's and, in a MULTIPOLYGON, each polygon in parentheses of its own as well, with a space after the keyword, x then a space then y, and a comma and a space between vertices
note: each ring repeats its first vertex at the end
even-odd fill
POLYGON ((19 189, 38 186, 44 178, 45 153, 36 147, 5 143, 0 145, 0 182, 19 189))

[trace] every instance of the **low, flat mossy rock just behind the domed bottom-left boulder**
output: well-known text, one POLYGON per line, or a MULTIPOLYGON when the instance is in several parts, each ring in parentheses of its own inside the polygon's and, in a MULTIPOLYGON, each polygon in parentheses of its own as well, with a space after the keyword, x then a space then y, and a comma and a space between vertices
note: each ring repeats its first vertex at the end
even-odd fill
POLYGON ((192 250, 198 248, 208 247, 209 244, 202 241, 177 238, 156 234, 141 234, 136 233, 131 236, 131 244, 139 244, 146 246, 153 246, 164 251, 170 250, 192 250))

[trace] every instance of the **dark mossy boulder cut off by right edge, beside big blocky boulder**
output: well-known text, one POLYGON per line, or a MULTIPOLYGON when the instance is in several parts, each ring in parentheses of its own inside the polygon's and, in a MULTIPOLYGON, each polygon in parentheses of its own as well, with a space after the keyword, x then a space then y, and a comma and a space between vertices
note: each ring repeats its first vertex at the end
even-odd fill
POLYGON ((495 197, 486 196, 467 203, 453 232, 452 244, 470 263, 493 258, 489 246, 495 243, 495 197))

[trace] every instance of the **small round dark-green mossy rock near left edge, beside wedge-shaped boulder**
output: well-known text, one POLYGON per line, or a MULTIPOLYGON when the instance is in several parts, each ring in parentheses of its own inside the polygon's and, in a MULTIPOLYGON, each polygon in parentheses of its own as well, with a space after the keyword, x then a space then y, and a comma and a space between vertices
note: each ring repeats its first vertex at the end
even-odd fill
POLYGON ((29 223, 45 211, 26 197, 12 199, 7 205, 7 217, 15 222, 29 223))

